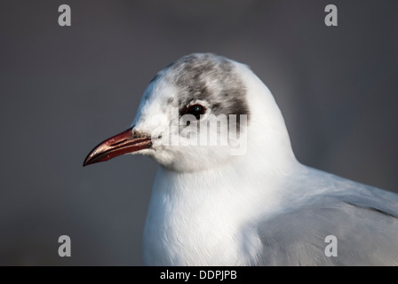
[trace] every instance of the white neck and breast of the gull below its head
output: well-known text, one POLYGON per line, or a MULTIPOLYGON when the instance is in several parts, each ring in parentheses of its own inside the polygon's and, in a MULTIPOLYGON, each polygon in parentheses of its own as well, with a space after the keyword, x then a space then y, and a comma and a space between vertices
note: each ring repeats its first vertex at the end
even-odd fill
POLYGON ((280 209, 283 177, 235 169, 177 173, 160 168, 144 233, 146 264, 244 265, 254 260, 260 246, 254 225, 280 209))

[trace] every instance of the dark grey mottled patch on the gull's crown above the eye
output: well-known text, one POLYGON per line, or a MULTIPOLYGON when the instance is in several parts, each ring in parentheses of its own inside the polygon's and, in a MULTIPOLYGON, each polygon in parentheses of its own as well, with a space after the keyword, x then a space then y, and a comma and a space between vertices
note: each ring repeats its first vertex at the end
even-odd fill
MULTIPOLYGON (((162 76, 177 86, 178 94, 167 99, 167 104, 179 106, 185 114, 189 103, 204 100, 211 114, 247 114, 249 106, 246 87, 229 59, 211 53, 193 53, 165 67, 153 80, 162 76)), ((239 120, 238 120, 239 122, 239 120)))

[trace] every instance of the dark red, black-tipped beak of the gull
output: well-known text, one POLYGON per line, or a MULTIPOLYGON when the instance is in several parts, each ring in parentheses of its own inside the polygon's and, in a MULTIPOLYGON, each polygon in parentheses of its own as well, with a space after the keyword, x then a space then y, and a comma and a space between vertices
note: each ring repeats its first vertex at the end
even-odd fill
POLYGON ((85 158, 83 166, 105 162, 122 154, 147 149, 150 146, 152 146, 151 138, 139 137, 132 128, 129 128, 92 149, 92 152, 85 158))

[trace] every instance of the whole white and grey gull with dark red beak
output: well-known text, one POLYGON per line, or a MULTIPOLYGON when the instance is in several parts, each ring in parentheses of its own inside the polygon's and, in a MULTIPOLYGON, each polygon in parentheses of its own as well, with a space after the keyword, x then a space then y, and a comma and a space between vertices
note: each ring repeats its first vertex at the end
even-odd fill
POLYGON ((235 60, 193 53, 157 73, 131 128, 84 166, 121 154, 159 163, 147 265, 398 264, 398 195, 298 162, 273 95, 235 60), (207 137, 219 143, 187 143, 219 117, 235 122, 235 138, 219 123, 207 137))

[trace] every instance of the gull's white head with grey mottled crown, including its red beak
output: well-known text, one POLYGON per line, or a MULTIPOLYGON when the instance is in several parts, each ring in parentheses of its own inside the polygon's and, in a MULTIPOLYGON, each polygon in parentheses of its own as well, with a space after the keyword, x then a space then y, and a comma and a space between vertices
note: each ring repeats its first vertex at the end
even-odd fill
POLYGON ((84 166, 121 154, 146 154, 167 170, 189 172, 238 162, 245 155, 256 159, 259 152, 275 163, 292 156, 270 91, 246 65, 193 53, 155 75, 131 128, 96 146, 84 166))

